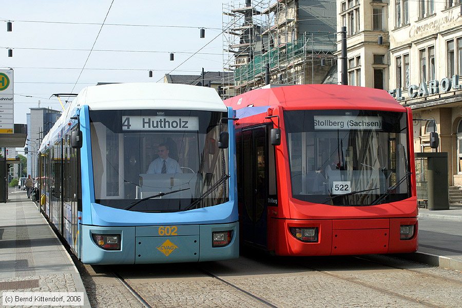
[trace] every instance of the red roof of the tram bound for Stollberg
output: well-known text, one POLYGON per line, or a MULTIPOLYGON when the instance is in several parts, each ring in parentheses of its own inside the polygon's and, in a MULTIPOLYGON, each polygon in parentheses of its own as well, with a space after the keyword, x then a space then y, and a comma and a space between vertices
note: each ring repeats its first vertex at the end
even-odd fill
POLYGON ((380 109, 405 111, 391 95, 380 89, 343 85, 292 85, 261 88, 225 100, 234 109, 281 106, 301 109, 380 109))

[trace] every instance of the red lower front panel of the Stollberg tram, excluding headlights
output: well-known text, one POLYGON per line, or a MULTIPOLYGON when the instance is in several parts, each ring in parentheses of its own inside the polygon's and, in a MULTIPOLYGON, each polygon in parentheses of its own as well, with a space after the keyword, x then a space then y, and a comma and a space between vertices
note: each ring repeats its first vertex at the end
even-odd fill
POLYGON ((415 252, 417 218, 278 220, 277 255, 329 256, 415 252), (401 226, 414 226, 414 235, 401 238, 401 226), (291 228, 317 228, 316 242, 303 242, 291 228))

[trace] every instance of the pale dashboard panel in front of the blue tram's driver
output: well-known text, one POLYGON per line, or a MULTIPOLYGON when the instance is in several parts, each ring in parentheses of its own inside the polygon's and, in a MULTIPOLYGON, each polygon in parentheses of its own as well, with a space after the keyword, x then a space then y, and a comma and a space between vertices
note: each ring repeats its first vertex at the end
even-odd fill
POLYGON ((189 189, 162 198, 190 198, 194 195, 198 180, 200 177, 197 174, 140 174, 140 198, 184 188, 189 189))

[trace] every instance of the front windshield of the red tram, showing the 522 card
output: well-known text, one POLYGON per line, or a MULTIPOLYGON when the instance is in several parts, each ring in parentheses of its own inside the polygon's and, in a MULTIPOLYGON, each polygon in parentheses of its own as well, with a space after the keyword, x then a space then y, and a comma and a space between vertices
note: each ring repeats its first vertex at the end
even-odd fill
POLYGON ((292 196, 368 206, 411 196, 405 112, 284 111, 292 196))

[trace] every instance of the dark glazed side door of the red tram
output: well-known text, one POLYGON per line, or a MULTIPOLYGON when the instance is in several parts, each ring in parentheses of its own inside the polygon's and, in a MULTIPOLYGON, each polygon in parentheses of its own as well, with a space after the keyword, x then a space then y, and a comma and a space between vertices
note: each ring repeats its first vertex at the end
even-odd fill
POLYGON ((241 215, 244 242, 266 247, 267 200, 267 129, 266 126, 242 130, 242 192, 241 215))

